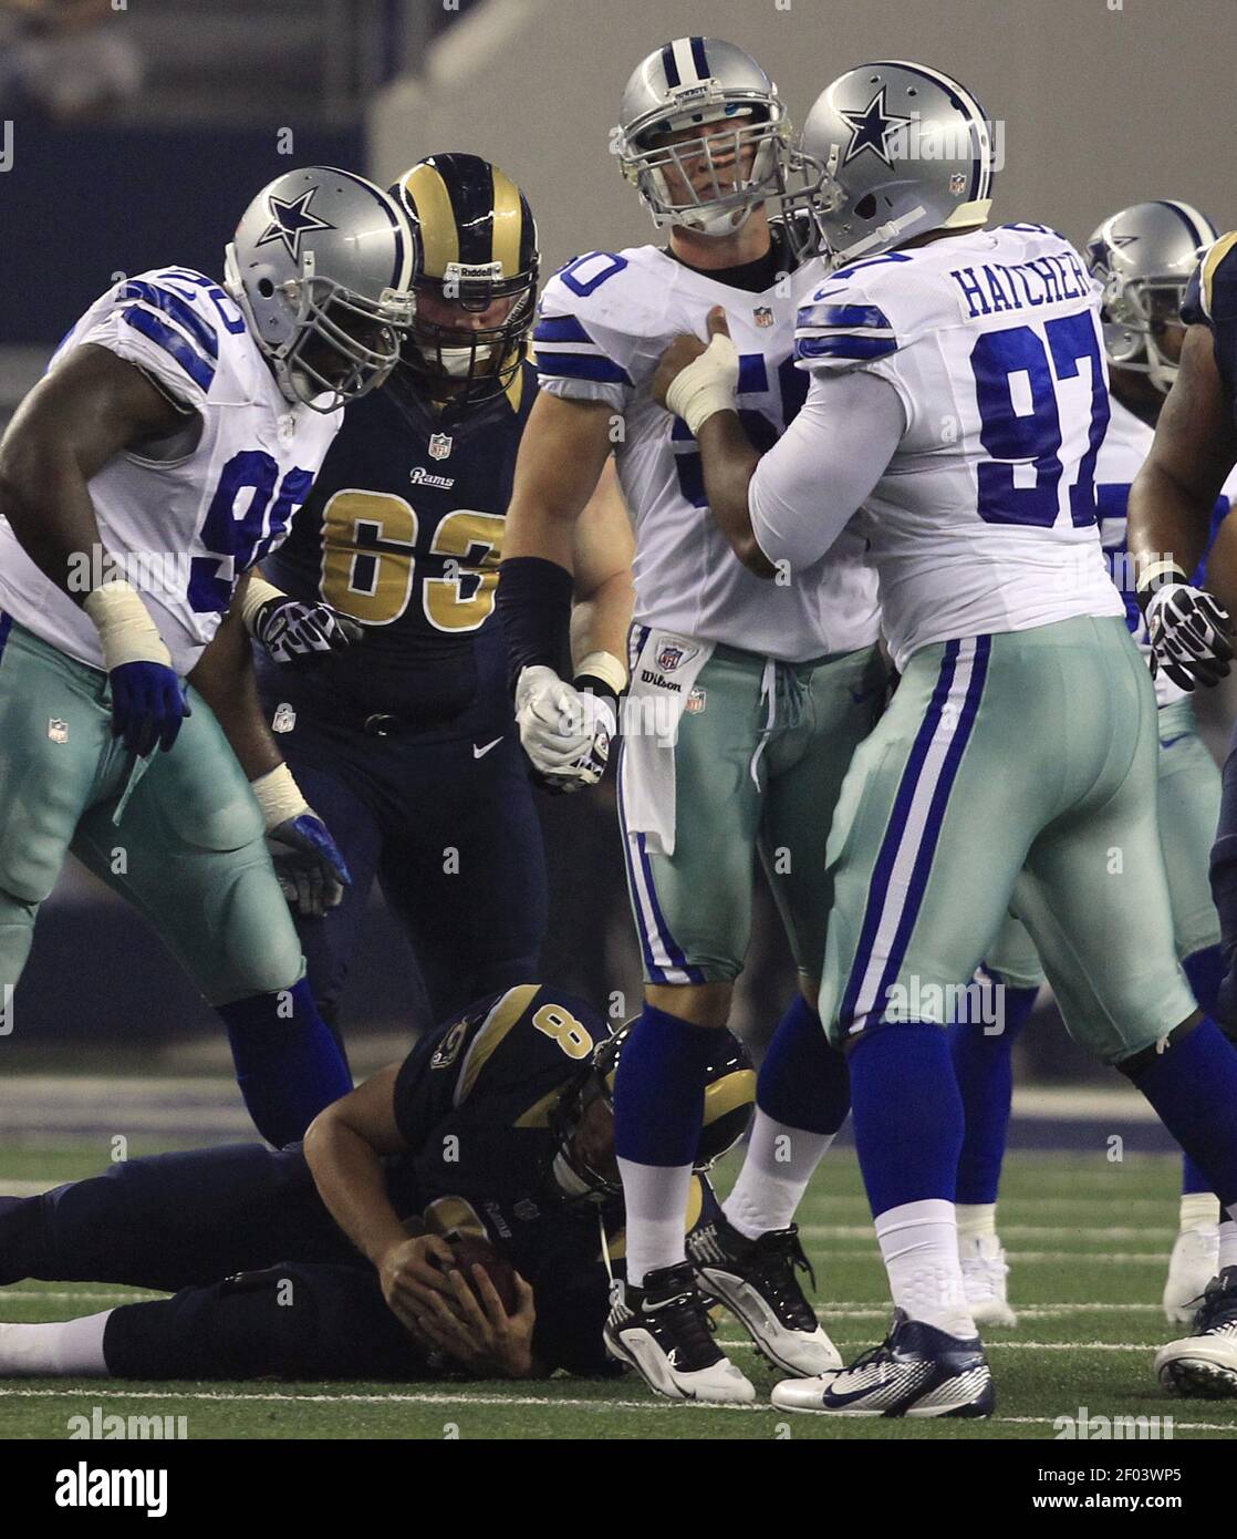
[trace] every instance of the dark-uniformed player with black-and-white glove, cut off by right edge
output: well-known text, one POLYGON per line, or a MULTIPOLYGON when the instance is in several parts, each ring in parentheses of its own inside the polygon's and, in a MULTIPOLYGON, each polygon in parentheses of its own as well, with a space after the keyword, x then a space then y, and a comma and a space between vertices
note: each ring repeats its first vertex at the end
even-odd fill
MULTIPOLYGON (((1211 508, 1237 468, 1237 232, 1208 251, 1182 305, 1186 336, 1177 380, 1160 414, 1155 442, 1129 492, 1129 548, 1139 560, 1139 596, 1157 666, 1182 689, 1212 685, 1229 671, 1237 602, 1237 519, 1220 529, 1197 569, 1211 531, 1211 508), (1214 596, 1212 596, 1214 594, 1214 596)), ((1211 851, 1211 896, 1220 916, 1225 970, 1220 1016, 1237 1025, 1237 760, 1223 768, 1223 794, 1211 851)), ((1229 1217, 1229 1214, 1225 1214, 1229 1217)), ((1182 1394, 1237 1394, 1237 1225, 1220 1225, 1219 1274, 1188 1337, 1155 1359, 1163 1384, 1182 1394)))

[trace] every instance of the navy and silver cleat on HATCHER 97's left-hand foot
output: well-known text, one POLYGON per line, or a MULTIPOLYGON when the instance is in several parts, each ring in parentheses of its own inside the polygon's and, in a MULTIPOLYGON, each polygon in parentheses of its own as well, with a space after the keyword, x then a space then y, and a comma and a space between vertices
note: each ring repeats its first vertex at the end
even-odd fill
POLYGON ((839 1373, 783 1379, 772 1404, 826 1416, 991 1416, 997 1396, 979 1336, 948 1336, 894 1310, 880 1347, 839 1373))

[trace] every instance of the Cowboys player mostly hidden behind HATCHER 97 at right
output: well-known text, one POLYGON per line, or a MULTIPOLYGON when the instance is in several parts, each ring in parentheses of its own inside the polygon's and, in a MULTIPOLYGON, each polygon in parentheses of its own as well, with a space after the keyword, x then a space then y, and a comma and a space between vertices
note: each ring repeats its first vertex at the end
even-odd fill
MULTIPOLYGON (((1106 219, 1086 246, 1088 269, 1103 285, 1103 337, 1109 365, 1111 420, 1095 460, 1100 542, 1122 589, 1126 623, 1149 659, 1146 625, 1134 593, 1125 542, 1129 485, 1146 459, 1185 340, 1180 306, 1200 248, 1215 240, 1209 220, 1188 203, 1135 203, 1106 219)), ((1228 514, 1232 483, 1215 502, 1212 536, 1228 514)), ((1211 543, 1211 539, 1208 540, 1211 543)), ((1202 571, 1195 576, 1202 582, 1202 571)), ((1172 899, 1177 954, 1194 997, 1215 1014, 1220 983, 1220 922, 1206 882, 1208 854, 1220 816, 1220 773, 1194 722, 1186 689, 1155 674, 1160 733, 1160 839, 1172 899)), ((997 1183, 1009 1122, 1011 1051, 1043 983, 1026 928, 1009 919, 986 959, 1000 988, 1000 1030, 975 1022, 951 1028, 966 1137, 959 1163, 959 1244, 966 1296, 977 1325, 1012 1325, 1008 1267, 995 1230, 997 1183)), ((1180 1233, 1172 1250, 1163 1305, 1169 1320, 1189 1320, 1215 1273, 1219 1210, 1206 1179, 1185 1160, 1180 1233)))

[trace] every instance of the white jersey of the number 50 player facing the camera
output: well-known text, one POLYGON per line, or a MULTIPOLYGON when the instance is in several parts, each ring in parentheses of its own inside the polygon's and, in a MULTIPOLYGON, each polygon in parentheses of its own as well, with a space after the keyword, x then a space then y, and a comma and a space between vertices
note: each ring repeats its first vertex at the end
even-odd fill
POLYGON ((757 294, 635 246, 577 257, 546 286, 535 332, 542 389, 608 402, 623 417, 615 463, 635 528, 639 625, 785 662, 875 640, 875 577, 863 540, 843 532, 812 582, 755 577, 709 514, 688 425, 649 394, 674 337, 706 339, 708 312, 722 305, 740 356, 740 414, 755 445, 769 448, 806 396, 794 366, 794 317, 822 275, 823 265, 811 262, 757 294))

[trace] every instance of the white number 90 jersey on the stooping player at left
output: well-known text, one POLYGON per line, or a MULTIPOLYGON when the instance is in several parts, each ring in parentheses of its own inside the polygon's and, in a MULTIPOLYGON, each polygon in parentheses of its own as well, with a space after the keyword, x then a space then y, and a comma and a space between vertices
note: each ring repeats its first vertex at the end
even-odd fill
MULTIPOLYGON (((65 337, 55 368, 83 343, 140 368, 202 431, 174 459, 117 454, 89 483, 103 551, 82 553, 82 591, 123 576, 188 674, 218 629, 246 568, 288 534, 343 411, 289 403, 211 279, 163 268, 125 279, 65 337)), ((0 609, 92 668, 103 666, 86 613, 34 565, 0 519, 0 609)))

